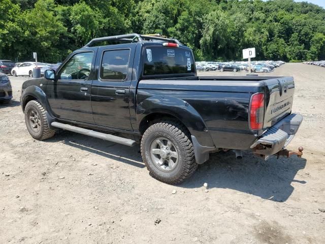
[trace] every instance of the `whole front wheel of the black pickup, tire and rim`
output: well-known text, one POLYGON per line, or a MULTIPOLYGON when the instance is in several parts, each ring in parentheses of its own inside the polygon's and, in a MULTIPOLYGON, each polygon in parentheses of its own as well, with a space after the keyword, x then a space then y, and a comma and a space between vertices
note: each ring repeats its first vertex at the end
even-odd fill
POLYGON ((55 131, 49 129, 43 106, 35 100, 29 101, 25 107, 25 123, 32 138, 45 140, 54 136, 55 131))

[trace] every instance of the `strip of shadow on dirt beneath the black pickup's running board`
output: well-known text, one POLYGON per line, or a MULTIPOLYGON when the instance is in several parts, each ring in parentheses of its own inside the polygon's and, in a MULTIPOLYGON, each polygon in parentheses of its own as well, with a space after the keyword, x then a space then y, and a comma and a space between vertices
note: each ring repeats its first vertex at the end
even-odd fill
POLYGON ((79 148, 91 154, 113 159, 138 168, 145 167, 142 162, 141 154, 139 153, 139 146, 124 146, 69 131, 59 131, 54 137, 47 141, 62 142, 68 146, 79 148))

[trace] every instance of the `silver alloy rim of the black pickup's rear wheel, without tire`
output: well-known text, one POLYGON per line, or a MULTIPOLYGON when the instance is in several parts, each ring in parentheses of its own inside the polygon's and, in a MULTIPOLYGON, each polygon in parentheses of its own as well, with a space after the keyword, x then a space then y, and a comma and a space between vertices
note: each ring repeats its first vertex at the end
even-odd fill
POLYGON ((175 169, 179 160, 175 145, 165 137, 153 140, 150 146, 150 157, 155 166, 163 171, 175 169))

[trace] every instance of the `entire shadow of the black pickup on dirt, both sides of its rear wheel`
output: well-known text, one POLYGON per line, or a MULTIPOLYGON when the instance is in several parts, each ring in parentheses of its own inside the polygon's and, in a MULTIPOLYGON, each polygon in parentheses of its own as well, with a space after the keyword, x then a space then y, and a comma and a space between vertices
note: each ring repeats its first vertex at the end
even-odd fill
MULTIPOLYGON (((81 134, 59 131, 49 142, 62 142, 68 146, 79 148, 90 154, 144 168, 139 146, 128 147, 81 134)), ((86 153, 85 153, 86 154, 86 153)), ((210 155, 210 160, 199 165, 198 170, 182 184, 181 188, 201 188, 205 182, 208 188, 233 189, 268 199, 284 202, 293 193, 292 182, 306 184, 304 180, 295 180, 297 172, 304 169, 306 159, 293 156, 268 161, 244 151, 243 159, 237 160, 233 151, 210 155)), ((148 177, 149 174, 148 174, 148 177)))

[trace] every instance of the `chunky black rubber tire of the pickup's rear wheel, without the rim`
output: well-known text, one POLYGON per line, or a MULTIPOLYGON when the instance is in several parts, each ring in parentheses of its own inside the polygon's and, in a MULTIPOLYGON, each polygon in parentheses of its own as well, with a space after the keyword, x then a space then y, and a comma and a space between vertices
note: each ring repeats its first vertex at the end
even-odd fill
POLYGON ((150 126, 141 140, 141 155, 149 174, 167 184, 179 184, 189 178, 198 168, 189 138, 187 129, 176 121, 161 121, 150 126), (151 159, 151 143, 160 137, 170 140, 178 152, 178 163, 172 171, 160 170, 151 159))

